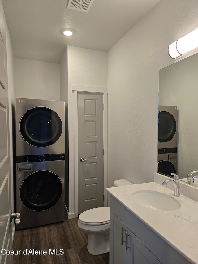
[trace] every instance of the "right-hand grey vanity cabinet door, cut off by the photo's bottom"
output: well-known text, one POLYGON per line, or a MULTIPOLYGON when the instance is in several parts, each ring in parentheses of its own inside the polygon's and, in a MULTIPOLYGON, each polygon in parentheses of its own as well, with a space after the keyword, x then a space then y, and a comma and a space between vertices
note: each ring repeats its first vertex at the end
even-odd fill
POLYGON ((157 262, 157 258, 150 252, 149 249, 128 229, 128 246, 130 250, 127 250, 127 264, 154 264, 157 262))

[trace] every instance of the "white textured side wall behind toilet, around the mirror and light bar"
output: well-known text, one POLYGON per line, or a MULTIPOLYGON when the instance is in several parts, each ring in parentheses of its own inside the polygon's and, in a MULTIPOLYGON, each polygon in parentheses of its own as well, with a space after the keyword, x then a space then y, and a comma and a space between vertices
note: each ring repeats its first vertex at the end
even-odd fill
POLYGON ((196 0, 161 0, 108 52, 109 186, 154 180, 159 69, 175 62, 168 45, 198 28, 197 12, 196 0))

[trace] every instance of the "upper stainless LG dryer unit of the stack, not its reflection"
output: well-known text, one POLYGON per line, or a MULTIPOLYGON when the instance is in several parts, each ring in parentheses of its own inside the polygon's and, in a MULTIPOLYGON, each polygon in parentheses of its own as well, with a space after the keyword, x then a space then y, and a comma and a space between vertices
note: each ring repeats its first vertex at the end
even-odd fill
POLYGON ((16 156, 64 153, 65 102, 16 98, 16 156))

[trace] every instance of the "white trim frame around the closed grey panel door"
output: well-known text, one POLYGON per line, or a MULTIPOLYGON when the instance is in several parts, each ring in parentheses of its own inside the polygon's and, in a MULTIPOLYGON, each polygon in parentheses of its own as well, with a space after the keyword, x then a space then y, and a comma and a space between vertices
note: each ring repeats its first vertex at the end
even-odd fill
POLYGON ((107 149, 107 87, 95 87, 84 85, 73 85, 74 93, 74 213, 78 216, 78 92, 84 93, 103 93, 103 148, 104 148, 104 206, 108 205, 108 195, 106 188, 108 187, 108 149, 107 149))

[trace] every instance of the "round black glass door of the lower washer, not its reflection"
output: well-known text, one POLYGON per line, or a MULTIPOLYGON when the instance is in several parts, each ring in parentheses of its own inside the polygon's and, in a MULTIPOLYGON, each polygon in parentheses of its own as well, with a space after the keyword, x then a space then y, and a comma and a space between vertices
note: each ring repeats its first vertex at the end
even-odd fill
POLYGON ((43 211, 54 206, 62 194, 62 183, 51 171, 30 174, 21 184, 20 198, 30 210, 43 211))

